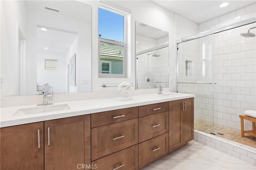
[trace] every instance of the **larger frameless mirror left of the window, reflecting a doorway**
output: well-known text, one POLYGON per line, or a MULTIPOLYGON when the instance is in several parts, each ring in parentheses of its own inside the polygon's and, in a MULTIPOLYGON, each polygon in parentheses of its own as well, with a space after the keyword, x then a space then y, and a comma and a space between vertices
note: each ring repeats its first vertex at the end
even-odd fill
POLYGON ((91 91, 91 6, 1 1, 1 96, 91 91))

